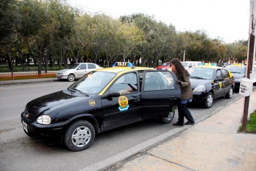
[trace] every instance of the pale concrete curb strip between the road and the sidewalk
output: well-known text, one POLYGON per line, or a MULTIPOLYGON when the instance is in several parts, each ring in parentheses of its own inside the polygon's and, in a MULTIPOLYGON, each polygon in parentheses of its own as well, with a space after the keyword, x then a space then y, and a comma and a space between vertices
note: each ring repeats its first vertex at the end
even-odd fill
MULTIPOLYGON (((225 107, 229 106, 230 104, 234 103, 235 101, 239 100, 240 98, 243 98, 244 96, 240 95, 239 97, 236 97, 234 100, 230 101, 229 103, 220 106, 217 108, 214 112, 211 112, 210 114, 206 114, 202 116, 201 118, 197 119, 197 123, 202 122, 205 119, 208 119, 211 117, 213 114, 218 113, 221 109, 224 109, 225 107)), ((105 160, 99 161, 95 164, 92 164, 90 166, 87 166, 79 171, 104 171, 107 170, 108 168, 116 165, 117 163, 120 163, 122 161, 125 161, 126 159, 132 157, 135 154, 144 152, 151 147, 175 136, 181 133, 184 130, 187 130, 190 128, 192 125, 184 125, 182 128, 175 128, 173 130, 170 130, 168 132, 165 132, 164 134, 161 134, 155 138, 152 138, 150 140, 147 140, 143 143, 140 143, 139 145, 136 145, 128 150, 125 150, 121 153, 118 153, 117 155, 113 155, 112 157, 109 157, 105 160)))

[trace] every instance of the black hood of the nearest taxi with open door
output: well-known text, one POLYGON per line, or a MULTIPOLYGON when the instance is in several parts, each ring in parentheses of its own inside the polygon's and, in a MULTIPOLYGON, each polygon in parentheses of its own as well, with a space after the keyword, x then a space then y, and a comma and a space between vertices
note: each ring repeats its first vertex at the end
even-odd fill
POLYGON ((36 98, 27 104, 25 110, 34 116, 42 113, 49 114, 56 109, 91 98, 91 96, 74 96, 65 93, 66 91, 68 90, 62 90, 36 98))

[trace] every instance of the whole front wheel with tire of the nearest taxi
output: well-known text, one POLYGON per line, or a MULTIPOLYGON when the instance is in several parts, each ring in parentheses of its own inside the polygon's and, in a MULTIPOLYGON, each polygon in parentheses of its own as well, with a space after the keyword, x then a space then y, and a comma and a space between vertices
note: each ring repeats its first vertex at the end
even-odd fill
POLYGON ((65 135, 64 143, 72 151, 87 149, 94 141, 95 129, 86 120, 79 120, 69 126, 65 135))

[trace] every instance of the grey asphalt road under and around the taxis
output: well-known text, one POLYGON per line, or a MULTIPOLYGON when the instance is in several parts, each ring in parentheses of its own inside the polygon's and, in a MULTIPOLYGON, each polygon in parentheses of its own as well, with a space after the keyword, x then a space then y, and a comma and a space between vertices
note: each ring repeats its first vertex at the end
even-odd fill
MULTIPOLYGON (((144 120, 96 135, 93 145, 84 151, 72 152, 64 145, 46 145, 32 140, 23 131, 20 114, 32 99, 68 87, 71 83, 58 81, 0 86, 0 171, 78 171, 124 150, 176 128, 155 119, 144 120)), ((197 119, 213 114, 233 98, 217 99, 212 108, 191 104, 189 109, 197 119)))

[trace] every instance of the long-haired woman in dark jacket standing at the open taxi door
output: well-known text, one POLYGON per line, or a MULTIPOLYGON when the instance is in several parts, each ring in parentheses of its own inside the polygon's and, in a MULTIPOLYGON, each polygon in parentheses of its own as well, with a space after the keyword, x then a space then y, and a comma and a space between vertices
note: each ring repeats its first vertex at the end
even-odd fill
POLYGON ((185 124, 194 124, 195 121, 190 111, 187 109, 187 102, 192 102, 193 97, 189 73, 177 58, 171 60, 171 69, 178 78, 177 83, 181 86, 181 99, 178 103, 179 119, 178 122, 173 125, 183 125, 184 117, 188 120, 185 124))

